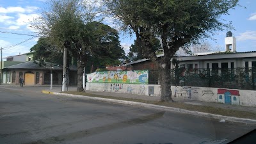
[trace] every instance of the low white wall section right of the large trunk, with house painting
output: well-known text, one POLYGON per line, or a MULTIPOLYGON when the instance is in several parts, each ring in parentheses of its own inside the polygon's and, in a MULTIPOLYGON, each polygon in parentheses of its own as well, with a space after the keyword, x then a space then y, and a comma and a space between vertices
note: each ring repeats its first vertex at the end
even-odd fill
POLYGON ((239 106, 256 106, 256 91, 228 88, 172 86, 173 97, 205 102, 220 102, 239 106))

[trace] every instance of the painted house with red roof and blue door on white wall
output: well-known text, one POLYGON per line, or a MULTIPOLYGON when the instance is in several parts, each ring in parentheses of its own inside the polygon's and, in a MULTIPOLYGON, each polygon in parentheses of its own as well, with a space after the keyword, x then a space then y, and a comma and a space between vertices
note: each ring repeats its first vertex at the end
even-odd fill
POLYGON ((223 104, 240 105, 239 90, 218 89, 217 101, 223 104))

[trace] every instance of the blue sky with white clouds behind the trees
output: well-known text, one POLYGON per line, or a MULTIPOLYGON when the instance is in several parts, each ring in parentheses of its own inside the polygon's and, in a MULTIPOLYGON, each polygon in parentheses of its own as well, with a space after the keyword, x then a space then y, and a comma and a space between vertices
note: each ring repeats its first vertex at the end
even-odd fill
MULTIPOLYGON (((36 31, 31 29, 29 21, 40 17, 45 1, 47 0, 0 0, 0 47, 3 47, 3 58, 29 52, 36 44, 38 37, 33 37, 36 31)), ((225 49, 224 38, 227 31, 232 31, 237 39, 237 52, 256 51, 256 1, 240 0, 239 4, 242 6, 230 10, 230 15, 221 17, 232 21, 235 30, 216 31, 212 39, 205 40, 212 47, 225 49)), ((107 17, 106 20, 113 26, 111 18, 107 17)), ((134 38, 135 36, 124 35, 120 31, 120 44, 126 53, 134 38)))

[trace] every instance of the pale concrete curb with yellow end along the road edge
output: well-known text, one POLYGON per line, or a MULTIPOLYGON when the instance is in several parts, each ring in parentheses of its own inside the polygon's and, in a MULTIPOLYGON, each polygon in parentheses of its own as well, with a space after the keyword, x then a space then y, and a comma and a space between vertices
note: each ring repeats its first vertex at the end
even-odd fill
POLYGON ((195 115, 195 116, 204 116, 206 118, 215 118, 218 120, 227 120, 230 122, 241 122, 241 123, 246 123, 246 124, 256 124, 256 120, 249 119, 249 118, 237 118, 233 116, 223 116, 223 115, 215 115, 211 113, 204 113, 204 112, 199 112, 199 111, 189 111, 187 109, 180 109, 180 108, 172 108, 168 106, 158 106, 155 104, 146 104, 143 102, 132 102, 132 101, 126 101, 126 100, 116 100, 116 99, 106 99, 106 98, 101 98, 101 97, 89 97, 89 96, 84 96, 84 95, 72 95, 72 94, 67 94, 67 93, 58 93, 58 92, 48 92, 46 90, 42 90, 42 93, 46 94, 52 94, 52 95, 64 95, 67 97, 83 97, 84 99, 91 99, 91 100, 98 100, 102 102, 113 102, 116 104, 126 104, 126 105, 131 105, 131 106, 140 106, 144 108, 153 108, 153 109, 159 109, 162 111, 172 111, 172 112, 178 112, 178 113, 186 113, 189 115, 195 115))

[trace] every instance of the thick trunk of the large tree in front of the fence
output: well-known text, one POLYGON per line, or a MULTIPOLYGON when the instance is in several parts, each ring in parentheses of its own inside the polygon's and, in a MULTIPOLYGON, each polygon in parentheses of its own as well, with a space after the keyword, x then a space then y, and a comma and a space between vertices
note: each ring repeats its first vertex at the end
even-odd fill
MULTIPOLYGON (((166 57, 166 56, 164 56, 166 57)), ((157 61, 161 85, 161 101, 173 102, 171 90, 170 58, 157 61)))

